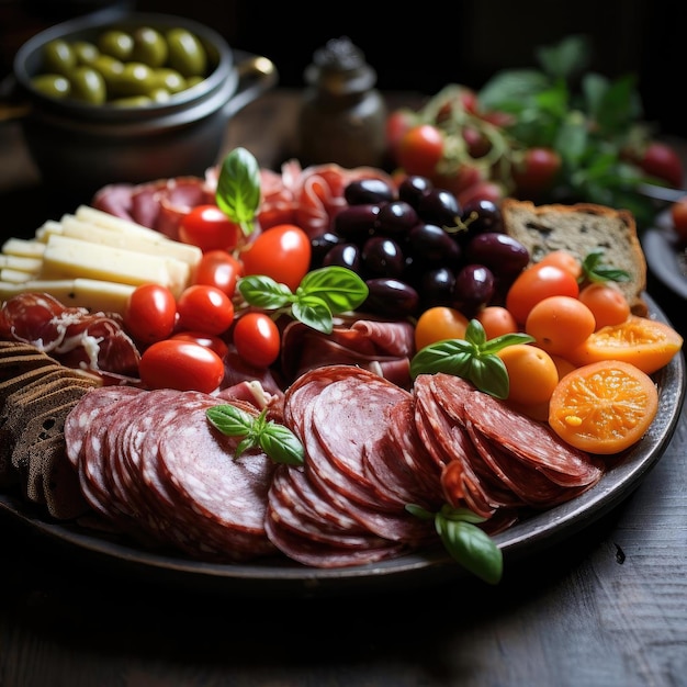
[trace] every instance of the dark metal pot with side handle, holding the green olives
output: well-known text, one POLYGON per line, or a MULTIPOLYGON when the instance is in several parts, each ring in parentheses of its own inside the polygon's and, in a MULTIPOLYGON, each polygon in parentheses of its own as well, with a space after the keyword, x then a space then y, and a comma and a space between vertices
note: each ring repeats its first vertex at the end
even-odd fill
POLYGON ((81 16, 52 26, 18 50, 13 78, 26 103, 22 128, 44 183, 93 192, 108 183, 139 183, 202 176, 221 153, 232 116, 278 81, 266 57, 232 50, 212 29, 169 14, 115 12, 81 16), (122 108, 50 98, 31 79, 41 68, 43 46, 55 38, 94 38, 105 27, 184 27, 203 43, 209 76, 168 102, 122 108))

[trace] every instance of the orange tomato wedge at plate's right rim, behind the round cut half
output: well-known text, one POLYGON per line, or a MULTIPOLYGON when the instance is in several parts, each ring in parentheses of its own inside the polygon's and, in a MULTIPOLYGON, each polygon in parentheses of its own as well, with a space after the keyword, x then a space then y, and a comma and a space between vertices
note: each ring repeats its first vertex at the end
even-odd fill
POLYGON ((682 348, 683 337, 669 325, 631 315, 619 325, 601 327, 565 357, 576 365, 622 360, 652 374, 667 365, 682 348))

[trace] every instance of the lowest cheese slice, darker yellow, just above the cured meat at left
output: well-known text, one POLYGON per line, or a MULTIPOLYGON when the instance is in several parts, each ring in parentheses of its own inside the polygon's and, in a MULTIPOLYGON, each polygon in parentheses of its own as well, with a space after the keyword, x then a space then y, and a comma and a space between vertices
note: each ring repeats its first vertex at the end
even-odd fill
POLYGON ((91 313, 124 314, 135 286, 94 279, 31 280, 0 282, 0 301, 25 292, 49 293, 67 306, 86 307, 91 313))

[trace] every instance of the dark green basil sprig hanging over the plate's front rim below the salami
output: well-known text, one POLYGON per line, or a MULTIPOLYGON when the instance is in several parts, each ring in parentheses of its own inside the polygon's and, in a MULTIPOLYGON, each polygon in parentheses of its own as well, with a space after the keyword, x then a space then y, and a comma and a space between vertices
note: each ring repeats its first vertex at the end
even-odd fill
POLYGON ((504 556, 494 540, 477 527, 485 518, 466 508, 452 508, 448 504, 437 513, 421 506, 407 505, 406 510, 424 520, 433 519, 435 529, 451 558, 465 570, 487 584, 500 582, 504 573, 504 556))

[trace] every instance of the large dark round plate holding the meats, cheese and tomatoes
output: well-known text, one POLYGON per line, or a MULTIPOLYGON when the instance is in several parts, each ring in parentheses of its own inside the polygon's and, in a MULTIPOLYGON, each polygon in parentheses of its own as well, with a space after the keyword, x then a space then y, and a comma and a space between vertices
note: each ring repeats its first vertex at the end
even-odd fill
MULTIPOLYGON (((651 316, 667 322, 646 297, 651 316)), ((531 555, 588 527, 628 497, 656 464, 677 425, 685 396, 682 356, 655 375, 658 413, 649 432, 582 496, 529 518, 495 537, 504 562, 531 555)), ((316 597, 410 588, 460 578, 466 573, 442 549, 404 555, 371 565, 318 570, 283 559, 251 565, 200 563, 146 551, 131 542, 108 538, 85 528, 47 521, 20 499, 0 494, 0 508, 30 528, 77 548, 111 571, 133 573, 173 586, 229 595, 316 597)))

